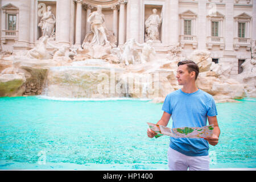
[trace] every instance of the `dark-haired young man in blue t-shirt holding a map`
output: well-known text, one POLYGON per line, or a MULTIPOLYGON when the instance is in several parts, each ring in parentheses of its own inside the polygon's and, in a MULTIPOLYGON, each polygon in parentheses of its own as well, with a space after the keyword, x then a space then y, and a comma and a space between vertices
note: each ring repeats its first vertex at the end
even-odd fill
MULTIPOLYGON (((199 67, 193 61, 180 61, 177 68, 177 81, 183 88, 167 95, 162 107, 163 115, 158 125, 167 126, 172 117, 172 128, 203 127, 213 124, 212 137, 204 139, 170 137, 168 167, 170 170, 209 170, 209 144, 215 146, 220 136, 217 122, 217 109, 213 97, 196 87, 199 67), (209 144, 208 144, 209 143, 209 144)), ((147 130, 148 137, 156 133, 147 130)))

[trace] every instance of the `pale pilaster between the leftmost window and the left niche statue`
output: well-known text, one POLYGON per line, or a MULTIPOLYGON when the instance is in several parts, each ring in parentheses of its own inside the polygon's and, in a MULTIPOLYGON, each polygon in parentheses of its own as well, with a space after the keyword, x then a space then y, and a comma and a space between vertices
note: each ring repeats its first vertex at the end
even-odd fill
POLYGON ((22 1, 19 6, 19 39, 14 49, 30 49, 30 0, 22 1))

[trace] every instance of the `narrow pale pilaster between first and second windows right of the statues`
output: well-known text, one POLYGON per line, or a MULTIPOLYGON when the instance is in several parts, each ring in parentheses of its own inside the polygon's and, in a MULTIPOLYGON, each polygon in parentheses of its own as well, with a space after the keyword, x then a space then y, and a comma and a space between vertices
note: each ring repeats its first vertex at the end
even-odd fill
POLYGON ((197 35, 198 40, 198 49, 205 49, 206 48, 206 1, 205 0, 199 0, 198 1, 198 21, 199 21, 199 30, 200 35, 197 35))

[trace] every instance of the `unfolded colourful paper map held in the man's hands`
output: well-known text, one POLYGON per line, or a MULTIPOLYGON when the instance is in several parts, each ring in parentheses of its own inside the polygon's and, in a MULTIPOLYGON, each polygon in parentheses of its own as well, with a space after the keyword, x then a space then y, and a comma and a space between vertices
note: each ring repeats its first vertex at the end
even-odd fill
POLYGON ((152 131, 155 131, 155 138, 168 135, 174 138, 206 138, 213 134, 213 125, 203 127, 179 127, 170 129, 169 127, 147 123, 152 131))

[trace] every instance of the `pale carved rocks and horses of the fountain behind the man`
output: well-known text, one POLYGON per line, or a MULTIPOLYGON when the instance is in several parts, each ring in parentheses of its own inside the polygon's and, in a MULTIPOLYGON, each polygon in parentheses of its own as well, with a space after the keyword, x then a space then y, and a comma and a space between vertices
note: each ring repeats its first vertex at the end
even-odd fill
MULTIPOLYGON (((170 47, 169 59, 160 59, 150 41, 139 44, 134 39, 110 46, 98 59, 86 48, 50 46, 53 50, 48 49, 46 36, 26 54, 2 56, 0 96, 132 97, 163 102, 168 93, 181 88, 175 77, 182 57, 179 46, 170 47), (43 57, 47 55, 52 59, 43 57)), ((228 65, 213 63, 208 51, 196 50, 188 59, 199 65, 198 88, 212 94, 216 102, 255 96, 255 59, 242 64, 244 70, 237 80, 229 77, 228 65)))

